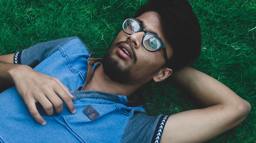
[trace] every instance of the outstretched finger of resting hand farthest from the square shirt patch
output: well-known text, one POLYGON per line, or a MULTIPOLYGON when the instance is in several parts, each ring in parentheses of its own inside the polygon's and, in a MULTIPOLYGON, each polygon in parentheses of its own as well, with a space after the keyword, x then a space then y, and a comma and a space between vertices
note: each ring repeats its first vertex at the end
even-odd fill
POLYGON ((41 117, 41 115, 39 114, 36 106, 35 106, 35 101, 29 101, 26 103, 26 105, 29 108, 29 112, 30 115, 35 119, 35 121, 39 124, 41 124, 42 126, 46 125, 46 121, 44 118, 41 117))

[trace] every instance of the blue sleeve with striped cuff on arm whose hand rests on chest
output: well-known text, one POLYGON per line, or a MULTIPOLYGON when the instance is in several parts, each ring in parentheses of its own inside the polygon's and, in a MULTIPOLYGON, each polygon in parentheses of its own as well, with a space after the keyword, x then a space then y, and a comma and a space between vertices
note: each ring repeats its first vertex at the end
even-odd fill
POLYGON ((14 64, 28 65, 32 68, 44 61, 51 54, 58 50, 59 47, 77 37, 68 37, 48 42, 38 43, 23 51, 14 54, 14 64))

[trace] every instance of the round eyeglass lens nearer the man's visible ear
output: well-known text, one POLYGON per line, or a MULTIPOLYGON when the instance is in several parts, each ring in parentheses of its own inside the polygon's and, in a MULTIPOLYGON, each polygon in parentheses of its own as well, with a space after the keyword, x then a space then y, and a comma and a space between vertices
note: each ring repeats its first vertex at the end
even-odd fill
POLYGON ((161 47, 161 42, 156 36, 147 34, 144 37, 143 45, 149 51, 156 51, 161 47))

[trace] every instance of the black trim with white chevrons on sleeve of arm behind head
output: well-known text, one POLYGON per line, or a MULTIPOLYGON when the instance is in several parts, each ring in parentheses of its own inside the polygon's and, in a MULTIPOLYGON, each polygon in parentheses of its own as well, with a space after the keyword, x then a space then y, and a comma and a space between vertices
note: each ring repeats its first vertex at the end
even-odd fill
POLYGON ((152 137, 152 141, 151 141, 152 143, 159 143, 160 142, 161 135, 163 133, 163 129, 164 129, 164 126, 165 126, 165 123, 166 123, 168 117, 169 117, 168 115, 162 116, 158 120, 155 133, 154 133, 154 135, 152 137))

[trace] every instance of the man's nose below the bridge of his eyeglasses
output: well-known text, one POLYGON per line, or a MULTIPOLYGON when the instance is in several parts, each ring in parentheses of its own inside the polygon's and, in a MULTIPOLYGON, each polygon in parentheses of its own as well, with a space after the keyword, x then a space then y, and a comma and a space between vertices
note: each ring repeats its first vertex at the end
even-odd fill
POLYGON ((139 48, 142 44, 142 38, 144 36, 144 32, 137 32, 132 35, 127 36, 126 41, 129 41, 134 44, 134 48, 139 48))

